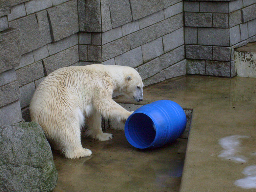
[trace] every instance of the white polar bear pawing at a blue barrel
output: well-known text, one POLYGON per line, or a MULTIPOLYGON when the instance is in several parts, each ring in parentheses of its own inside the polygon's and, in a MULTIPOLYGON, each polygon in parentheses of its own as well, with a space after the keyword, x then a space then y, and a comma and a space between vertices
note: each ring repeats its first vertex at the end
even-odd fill
POLYGON ((48 140, 66 158, 90 156, 91 150, 81 144, 84 122, 87 135, 99 141, 112 139, 112 134, 102 132, 101 117, 125 121, 133 113, 112 99, 113 91, 142 101, 142 88, 139 73, 131 67, 64 67, 39 84, 30 103, 31 120, 41 125, 48 140))

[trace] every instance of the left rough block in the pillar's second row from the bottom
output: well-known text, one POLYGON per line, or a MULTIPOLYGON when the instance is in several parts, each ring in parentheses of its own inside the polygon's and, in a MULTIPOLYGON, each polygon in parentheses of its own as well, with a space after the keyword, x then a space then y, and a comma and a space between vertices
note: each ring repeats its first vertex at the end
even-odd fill
POLYGON ((212 59, 212 46, 186 45, 187 59, 212 59))

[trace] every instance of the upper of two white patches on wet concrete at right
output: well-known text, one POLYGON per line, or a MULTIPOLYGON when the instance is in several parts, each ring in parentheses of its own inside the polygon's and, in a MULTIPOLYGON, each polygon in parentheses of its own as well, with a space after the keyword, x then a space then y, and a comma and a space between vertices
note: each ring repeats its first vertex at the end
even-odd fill
POLYGON ((241 151, 240 139, 248 139, 249 137, 250 136, 232 135, 219 139, 219 144, 224 150, 221 151, 221 154, 218 155, 218 157, 238 163, 245 163, 247 158, 243 155, 238 155, 241 151))

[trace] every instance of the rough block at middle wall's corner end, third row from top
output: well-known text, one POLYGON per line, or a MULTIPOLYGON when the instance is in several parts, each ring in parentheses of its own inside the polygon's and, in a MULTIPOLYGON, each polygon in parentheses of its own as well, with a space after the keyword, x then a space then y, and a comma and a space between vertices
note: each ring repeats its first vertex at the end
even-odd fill
POLYGON ((110 43, 107 43, 105 45, 102 45, 102 61, 108 60, 129 50, 129 36, 125 36, 110 43))

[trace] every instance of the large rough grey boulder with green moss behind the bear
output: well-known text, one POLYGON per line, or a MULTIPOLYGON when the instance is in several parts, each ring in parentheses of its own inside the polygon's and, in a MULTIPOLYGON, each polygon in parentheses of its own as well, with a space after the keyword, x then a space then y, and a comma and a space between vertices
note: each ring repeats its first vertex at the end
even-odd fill
POLYGON ((58 179, 53 154, 35 122, 0 126, 0 191, 52 191, 58 179))

